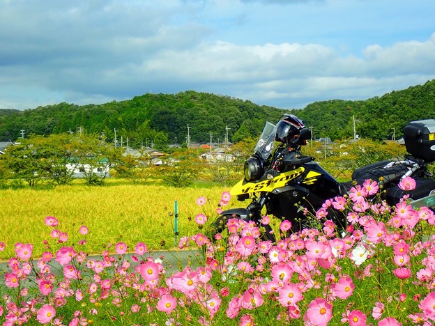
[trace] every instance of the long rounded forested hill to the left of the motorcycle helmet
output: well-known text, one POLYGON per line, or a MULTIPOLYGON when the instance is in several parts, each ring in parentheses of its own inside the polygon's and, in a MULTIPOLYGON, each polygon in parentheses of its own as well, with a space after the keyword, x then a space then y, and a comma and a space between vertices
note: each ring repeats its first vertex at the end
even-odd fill
POLYGON ((175 95, 145 94, 132 100, 105 104, 60 103, 2 115, 0 140, 15 140, 20 130, 28 134, 82 131, 107 139, 127 137, 131 145, 148 144, 155 137, 169 143, 238 141, 261 132, 265 121, 277 121, 284 110, 259 106, 228 96, 186 91, 175 95), (188 128, 189 126, 189 128, 188 128))

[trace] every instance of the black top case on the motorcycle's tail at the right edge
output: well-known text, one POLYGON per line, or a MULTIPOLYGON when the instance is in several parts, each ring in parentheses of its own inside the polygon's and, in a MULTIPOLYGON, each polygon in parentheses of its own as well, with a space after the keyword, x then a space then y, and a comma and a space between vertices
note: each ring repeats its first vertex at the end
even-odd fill
POLYGON ((411 121, 404 128, 406 151, 426 162, 435 161, 435 120, 411 121))

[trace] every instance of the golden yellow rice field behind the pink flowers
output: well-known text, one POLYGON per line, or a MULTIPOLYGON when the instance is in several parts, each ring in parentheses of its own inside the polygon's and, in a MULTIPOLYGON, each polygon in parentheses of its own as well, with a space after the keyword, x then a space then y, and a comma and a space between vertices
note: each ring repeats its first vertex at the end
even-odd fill
POLYGON ((44 240, 52 248, 60 247, 50 236, 52 228, 44 224, 46 216, 59 219, 59 230, 69 236, 66 245, 87 253, 98 253, 119 241, 130 247, 142 241, 151 249, 161 249, 165 240, 164 247, 174 247, 174 202, 178 202, 179 239, 198 231, 195 215, 203 210, 210 216, 216 214, 217 203, 226 190, 131 184, 0 190, 0 242, 6 244, 0 259, 15 255, 16 242, 33 243, 33 256, 45 251, 44 240), (208 203, 197 205, 199 196, 206 196, 208 203), (86 236, 78 232, 82 225, 89 228, 86 236), (77 243, 82 239, 87 244, 80 248, 77 243))

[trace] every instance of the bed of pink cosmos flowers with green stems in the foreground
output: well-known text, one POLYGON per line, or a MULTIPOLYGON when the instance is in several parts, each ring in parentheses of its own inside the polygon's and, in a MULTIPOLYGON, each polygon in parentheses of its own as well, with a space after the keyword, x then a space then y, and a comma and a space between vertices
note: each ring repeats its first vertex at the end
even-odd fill
MULTIPOLYGON (((413 180, 400 186, 411 190, 413 180)), ((347 215, 346 233, 313 216, 320 227, 299 233, 281 222, 276 242, 261 236, 268 216, 260 225, 229 219, 207 238, 214 219, 200 197, 194 219, 204 233, 178 246, 203 248, 204 258, 173 274, 143 242, 88 256, 86 226, 69 235, 46 217, 42 257, 33 261, 32 244, 13 248, 0 318, 5 325, 433 325, 435 215, 414 210, 406 196, 389 207, 377 187, 370 180, 326 203, 347 215)), ((222 194, 220 207, 228 200, 222 194)))

